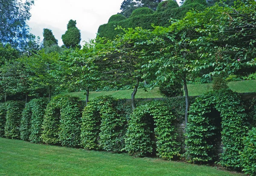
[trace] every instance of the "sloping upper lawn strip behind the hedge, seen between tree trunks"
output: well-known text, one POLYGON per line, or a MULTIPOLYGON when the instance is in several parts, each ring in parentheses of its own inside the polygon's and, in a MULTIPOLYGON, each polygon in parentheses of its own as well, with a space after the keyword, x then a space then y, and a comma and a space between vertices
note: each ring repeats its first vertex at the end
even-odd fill
MULTIPOLYGON (((235 92, 256 92, 256 81, 236 81, 229 82, 228 86, 235 92)), ((188 84, 189 96, 203 95, 205 92, 212 90, 212 84, 188 84)), ((101 92, 90 92, 89 100, 102 95, 112 95, 115 98, 131 98, 132 89, 130 90, 118 90, 118 91, 101 91, 101 92)), ((63 93, 63 95, 68 94, 70 96, 76 96, 82 100, 86 99, 84 92, 72 92, 63 93)), ((159 88, 156 87, 152 90, 145 92, 143 89, 138 89, 136 98, 162 98, 160 95, 159 88)))

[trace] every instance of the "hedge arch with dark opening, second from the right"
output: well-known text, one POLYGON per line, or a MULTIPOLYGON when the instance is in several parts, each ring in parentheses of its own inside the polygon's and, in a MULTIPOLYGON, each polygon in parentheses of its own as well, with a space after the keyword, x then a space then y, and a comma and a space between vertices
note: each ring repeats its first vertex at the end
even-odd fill
POLYGON ((181 144, 177 141, 175 120, 176 117, 163 102, 151 101, 138 106, 128 121, 125 150, 130 155, 141 157, 151 154, 156 147, 157 156, 163 159, 177 159, 180 156, 181 144), (148 115, 154 120, 147 118, 148 115))

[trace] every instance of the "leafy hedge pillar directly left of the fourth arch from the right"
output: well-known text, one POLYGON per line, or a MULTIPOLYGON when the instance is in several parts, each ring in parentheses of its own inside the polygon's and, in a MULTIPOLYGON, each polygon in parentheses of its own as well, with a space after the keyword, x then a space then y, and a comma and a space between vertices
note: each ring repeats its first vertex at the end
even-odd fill
MULTIPOLYGON (((44 121, 44 112, 49 103, 48 98, 33 99, 29 102, 31 109, 31 126, 29 141, 34 143, 41 143, 41 134, 43 131, 42 124, 44 121)), ((26 109, 26 108, 25 108, 26 109)))

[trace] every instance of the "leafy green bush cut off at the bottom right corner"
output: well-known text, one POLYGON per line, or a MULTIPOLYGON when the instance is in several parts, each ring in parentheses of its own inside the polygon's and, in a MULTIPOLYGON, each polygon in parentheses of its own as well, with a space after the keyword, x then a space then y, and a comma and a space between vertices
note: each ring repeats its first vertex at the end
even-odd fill
POLYGON ((256 128, 244 137, 244 150, 241 152, 243 171, 250 176, 256 175, 256 128))

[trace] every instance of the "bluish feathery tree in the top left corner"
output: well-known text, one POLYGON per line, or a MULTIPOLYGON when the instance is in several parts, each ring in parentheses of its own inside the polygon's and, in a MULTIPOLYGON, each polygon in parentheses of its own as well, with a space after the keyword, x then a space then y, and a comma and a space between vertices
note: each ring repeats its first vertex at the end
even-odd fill
POLYGON ((34 0, 0 0, 0 41, 22 49, 29 40, 29 10, 34 0))

